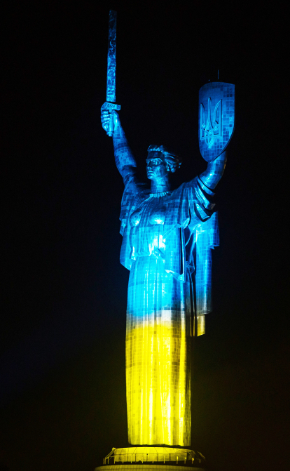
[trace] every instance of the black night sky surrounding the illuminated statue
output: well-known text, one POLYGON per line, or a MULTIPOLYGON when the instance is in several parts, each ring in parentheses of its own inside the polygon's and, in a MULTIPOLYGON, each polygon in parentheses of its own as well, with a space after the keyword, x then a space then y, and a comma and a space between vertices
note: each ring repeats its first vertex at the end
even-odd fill
POLYGON ((198 90, 236 86, 217 189, 214 312, 195 340, 192 448, 212 470, 289 469, 289 46, 277 2, 15 1, 2 14, 0 470, 92 471, 127 445, 123 182, 99 122, 109 8, 117 102, 205 169, 198 90))

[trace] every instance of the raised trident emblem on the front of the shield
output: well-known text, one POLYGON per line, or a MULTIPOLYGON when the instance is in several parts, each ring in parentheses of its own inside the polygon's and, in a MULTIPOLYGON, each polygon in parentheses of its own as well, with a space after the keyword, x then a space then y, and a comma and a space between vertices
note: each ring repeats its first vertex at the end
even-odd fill
POLYGON ((207 100, 207 122, 205 122, 205 107, 200 103, 200 140, 205 140, 209 149, 215 138, 221 137, 221 100, 216 103, 212 116, 212 98, 207 100))

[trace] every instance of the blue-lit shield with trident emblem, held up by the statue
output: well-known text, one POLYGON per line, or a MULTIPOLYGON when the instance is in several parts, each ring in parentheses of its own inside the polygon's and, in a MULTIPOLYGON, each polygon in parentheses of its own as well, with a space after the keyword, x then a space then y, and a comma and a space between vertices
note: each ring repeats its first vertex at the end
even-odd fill
POLYGON ((235 128, 235 85, 209 82, 200 88, 198 142, 210 162, 226 149, 235 128))

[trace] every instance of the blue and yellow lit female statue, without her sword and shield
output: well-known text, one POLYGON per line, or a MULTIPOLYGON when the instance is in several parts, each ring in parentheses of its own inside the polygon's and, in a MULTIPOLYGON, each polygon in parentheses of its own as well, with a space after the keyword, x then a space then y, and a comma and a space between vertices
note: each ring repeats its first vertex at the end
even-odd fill
MULTIPOLYGON (((117 112, 113 148, 125 190, 120 262, 130 270, 127 293, 126 387, 131 444, 191 444, 191 336, 205 333, 211 310, 211 249, 219 244, 212 197, 226 165, 223 152, 177 190, 177 154, 151 145, 151 188, 136 162, 117 112)), ((102 110, 102 126, 110 114, 102 110)))

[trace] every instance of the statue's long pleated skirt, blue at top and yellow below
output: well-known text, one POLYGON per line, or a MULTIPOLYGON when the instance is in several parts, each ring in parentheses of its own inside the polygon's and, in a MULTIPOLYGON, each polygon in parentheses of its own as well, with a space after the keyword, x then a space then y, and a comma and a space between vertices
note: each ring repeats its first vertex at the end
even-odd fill
POLYGON ((132 263, 127 298, 126 385, 131 444, 191 444, 189 283, 156 256, 132 263))

